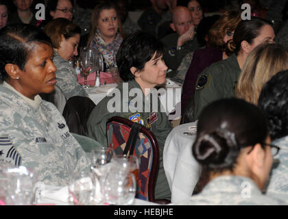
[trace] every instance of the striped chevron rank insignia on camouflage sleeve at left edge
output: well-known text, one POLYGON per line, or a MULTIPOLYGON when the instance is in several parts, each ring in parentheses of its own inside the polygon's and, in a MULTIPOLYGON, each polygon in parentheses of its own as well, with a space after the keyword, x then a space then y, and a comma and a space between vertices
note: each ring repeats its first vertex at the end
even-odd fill
POLYGON ((0 162, 20 166, 21 156, 8 137, 0 137, 0 162))

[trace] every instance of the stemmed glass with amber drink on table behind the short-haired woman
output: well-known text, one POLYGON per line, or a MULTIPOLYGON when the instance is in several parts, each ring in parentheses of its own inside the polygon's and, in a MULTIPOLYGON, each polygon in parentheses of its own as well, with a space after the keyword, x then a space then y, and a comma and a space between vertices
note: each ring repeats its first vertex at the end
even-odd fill
POLYGON ((84 76, 83 88, 88 88, 87 77, 93 72, 95 68, 95 50, 88 47, 83 47, 80 49, 80 66, 82 70, 82 75, 84 76))

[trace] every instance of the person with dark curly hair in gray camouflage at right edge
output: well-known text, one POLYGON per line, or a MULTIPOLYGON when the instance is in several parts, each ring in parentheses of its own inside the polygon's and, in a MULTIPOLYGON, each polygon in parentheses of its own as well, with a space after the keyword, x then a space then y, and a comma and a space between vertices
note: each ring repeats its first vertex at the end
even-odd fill
POLYGON ((280 147, 267 183, 267 195, 288 197, 288 70, 276 73, 262 88, 258 106, 267 116, 272 143, 280 147))

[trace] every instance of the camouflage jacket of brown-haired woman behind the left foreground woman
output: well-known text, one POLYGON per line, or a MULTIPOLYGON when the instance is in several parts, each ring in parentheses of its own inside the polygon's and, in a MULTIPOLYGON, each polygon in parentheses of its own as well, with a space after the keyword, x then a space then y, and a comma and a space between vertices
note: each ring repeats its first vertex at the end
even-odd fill
POLYGON ((56 85, 61 88, 67 100, 71 96, 88 96, 86 90, 78 83, 76 70, 56 51, 54 51, 53 62, 57 68, 56 85))

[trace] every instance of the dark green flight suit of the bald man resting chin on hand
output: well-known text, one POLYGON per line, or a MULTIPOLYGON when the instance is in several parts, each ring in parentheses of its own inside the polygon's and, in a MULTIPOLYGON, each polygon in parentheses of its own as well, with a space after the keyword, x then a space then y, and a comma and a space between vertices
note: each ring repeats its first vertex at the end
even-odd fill
POLYGON ((195 51, 195 49, 200 49, 196 36, 193 38, 193 40, 185 42, 181 49, 177 49, 178 38, 179 35, 177 33, 173 33, 160 40, 165 47, 163 54, 165 64, 167 65, 168 69, 172 70, 169 72, 169 77, 176 76, 176 70, 187 53, 195 51))

